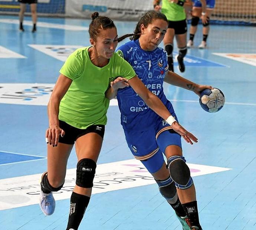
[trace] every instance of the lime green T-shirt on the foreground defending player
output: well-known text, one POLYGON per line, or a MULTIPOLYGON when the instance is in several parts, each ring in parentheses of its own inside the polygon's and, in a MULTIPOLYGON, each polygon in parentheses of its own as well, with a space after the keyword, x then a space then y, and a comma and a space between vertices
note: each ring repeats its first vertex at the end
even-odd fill
POLYGON ((93 124, 105 125, 109 100, 105 91, 116 77, 127 80, 135 76, 130 64, 114 53, 104 67, 92 64, 89 47, 70 54, 60 73, 72 79, 65 96, 60 101, 59 119, 73 127, 86 129, 93 124))

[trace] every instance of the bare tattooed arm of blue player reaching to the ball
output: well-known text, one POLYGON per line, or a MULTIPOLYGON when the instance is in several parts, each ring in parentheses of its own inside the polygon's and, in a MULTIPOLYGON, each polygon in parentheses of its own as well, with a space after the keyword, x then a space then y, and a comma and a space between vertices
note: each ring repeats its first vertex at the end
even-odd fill
POLYGON ((178 86, 187 90, 191 90, 197 95, 200 95, 200 92, 204 89, 213 89, 213 87, 211 86, 198 85, 193 81, 187 80, 186 78, 181 77, 180 75, 172 71, 167 71, 164 81, 173 86, 178 86))

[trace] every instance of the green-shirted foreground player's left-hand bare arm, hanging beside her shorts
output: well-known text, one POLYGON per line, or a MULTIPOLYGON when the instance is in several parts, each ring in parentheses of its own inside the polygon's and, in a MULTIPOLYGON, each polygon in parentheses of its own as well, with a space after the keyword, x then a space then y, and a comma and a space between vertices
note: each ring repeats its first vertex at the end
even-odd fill
POLYGON ((52 144, 53 147, 58 144, 59 134, 65 134, 65 132, 59 128, 59 105, 60 100, 68 91, 71 83, 71 79, 63 74, 60 74, 48 102, 47 111, 49 118, 49 129, 46 130, 46 138, 49 144, 52 144))

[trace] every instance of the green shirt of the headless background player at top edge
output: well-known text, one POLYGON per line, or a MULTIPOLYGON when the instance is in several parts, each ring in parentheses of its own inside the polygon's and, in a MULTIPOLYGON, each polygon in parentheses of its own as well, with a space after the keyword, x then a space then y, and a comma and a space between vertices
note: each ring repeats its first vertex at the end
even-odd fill
POLYGON ((163 0, 161 12, 165 14, 168 21, 182 21, 186 19, 186 13, 183 6, 179 6, 177 3, 171 3, 168 0, 163 0))

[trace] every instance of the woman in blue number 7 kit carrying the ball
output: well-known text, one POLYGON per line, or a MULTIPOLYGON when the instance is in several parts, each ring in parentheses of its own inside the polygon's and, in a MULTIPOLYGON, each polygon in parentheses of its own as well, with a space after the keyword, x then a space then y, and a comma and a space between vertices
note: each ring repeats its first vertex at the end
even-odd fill
POLYGON ((131 64, 139 79, 162 101, 175 121, 170 125, 170 122, 158 116, 128 85, 130 80, 122 77, 111 82, 106 97, 117 97, 128 147, 135 159, 140 160, 154 176, 160 193, 175 210, 183 229, 201 230, 196 190, 183 157, 181 137, 193 143, 187 139, 187 131, 175 131, 178 119, 171 102, 164 95, 163 82, 194 91, 198 95, 204 89, 213 88, 198 85, 168 71, 167 53, 158 47, 167 28, 168 20, 163 13, 148 11, 138 22, 131 41, 120 46, 117 53, 131 64))

